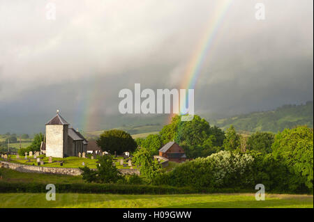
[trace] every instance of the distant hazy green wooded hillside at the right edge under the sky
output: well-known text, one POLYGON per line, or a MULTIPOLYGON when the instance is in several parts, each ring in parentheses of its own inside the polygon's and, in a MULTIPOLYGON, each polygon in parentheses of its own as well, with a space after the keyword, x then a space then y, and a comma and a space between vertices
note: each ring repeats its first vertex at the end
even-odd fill
POLYGON ((297 125, 313 128, 313 101, 301 105, 283 105, 274 111, 254 112, 210 120, 211 125, 227 129, 230 125, 242 132, 278 132, 297 125))

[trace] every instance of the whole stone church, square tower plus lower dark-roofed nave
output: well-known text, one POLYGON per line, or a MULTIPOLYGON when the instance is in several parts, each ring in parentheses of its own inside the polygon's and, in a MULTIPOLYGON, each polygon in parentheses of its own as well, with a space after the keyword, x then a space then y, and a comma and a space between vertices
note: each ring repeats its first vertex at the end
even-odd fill
POLYGON ((87 152, 88 141, 64 120, 59 111, 46 123, 46 157, 78 157, 79 152, 87 152))

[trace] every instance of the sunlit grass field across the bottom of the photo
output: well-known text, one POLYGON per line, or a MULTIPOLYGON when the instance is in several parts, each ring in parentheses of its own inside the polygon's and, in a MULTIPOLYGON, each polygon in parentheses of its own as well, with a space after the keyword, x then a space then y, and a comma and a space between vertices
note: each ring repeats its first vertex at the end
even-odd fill
POLYGON ((0 193, 0 208, 10 207, 313 208, 313 196, 267 194, 264 201, 257 201, 254 193, 158 196, 57 193, 55 201, 47 201, 45 193, 0 193))

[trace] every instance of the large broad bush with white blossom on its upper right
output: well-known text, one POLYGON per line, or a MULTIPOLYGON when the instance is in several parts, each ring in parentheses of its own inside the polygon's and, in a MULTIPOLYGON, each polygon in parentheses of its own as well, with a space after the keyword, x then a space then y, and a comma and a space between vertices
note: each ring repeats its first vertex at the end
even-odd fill
POLYGON ((170 173, 158 178, 155 184, 176 187, 245 187, 253 182, 251 167, 254 158, 250 154, 220 151, 209 157, 186 161, 170 173), (161 182, 162 181, 162 182, 161 182))

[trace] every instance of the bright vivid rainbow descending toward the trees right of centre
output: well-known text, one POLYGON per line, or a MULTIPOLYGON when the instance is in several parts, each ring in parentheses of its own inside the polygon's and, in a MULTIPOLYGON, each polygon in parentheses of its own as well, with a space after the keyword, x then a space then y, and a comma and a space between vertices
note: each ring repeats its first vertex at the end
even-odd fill
MULTIPOLYGON (((209 55, 209 52, 211 50, 211 46, 213 45, 214 39, 216 37, 216 34, 218 32, 219 27, 221 26, 221 23, 223 22, 223 19, 229 10, 230 6, 232 5, 233 0, 221 0, 218 1, 218 5, 216 6, 216 9, 214 10, 214 14, 209 17, 209 22, 207 25, 207 29, 204 32, 204 35, 202 35, 202 38, 194 51, 193 55, 190 58, 190 62, 186 66, 186 72, 184 74, 183 81, 181 82, 180 88, 182 89, 194 89, 195 85, 197 83, 197 79, 200 76, 200 70, 202 68, 202 65, 209 55)), ((188 97, 186 97, 186 100, 188 97)), ((187 103, 187 101, 186 101, 187 103)), ((184 105, 182 103, 182 105, 184 105)), ((181 115, 186 114, 182 113, 184 110, 184 107, 181 106, 179 108, 179 112, 181 115)), ((170 114, 167 122, 170 123, 172 120, 172 117, 177 115, 176 113, 170 114)))

